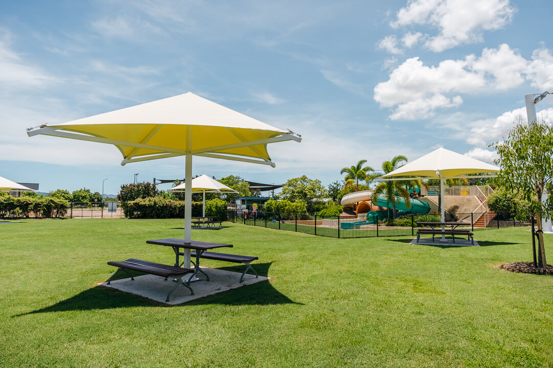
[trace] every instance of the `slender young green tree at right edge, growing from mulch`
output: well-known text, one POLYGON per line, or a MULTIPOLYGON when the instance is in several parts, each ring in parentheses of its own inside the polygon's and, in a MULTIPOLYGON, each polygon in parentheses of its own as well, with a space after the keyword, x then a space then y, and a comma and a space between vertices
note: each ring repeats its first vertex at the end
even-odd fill
POLYGON ((541 219, 553 216, 553 128, 543 121, 515 122, 503 141, 490 146, 497 150, 495 163, 501 166, 499 185, 520 193, 536 214, 541 267, 546 271, 541 219), (542 194, 547 194, 547 200, 542 200, 542 194))

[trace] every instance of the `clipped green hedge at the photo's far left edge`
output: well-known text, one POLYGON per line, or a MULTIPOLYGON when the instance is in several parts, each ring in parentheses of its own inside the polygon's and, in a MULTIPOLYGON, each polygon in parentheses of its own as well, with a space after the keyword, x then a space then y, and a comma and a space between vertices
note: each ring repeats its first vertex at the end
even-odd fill
POLYGON ((0 197, 0 217, 63 217, 69 202, 64 199, 44 196, 0 197))

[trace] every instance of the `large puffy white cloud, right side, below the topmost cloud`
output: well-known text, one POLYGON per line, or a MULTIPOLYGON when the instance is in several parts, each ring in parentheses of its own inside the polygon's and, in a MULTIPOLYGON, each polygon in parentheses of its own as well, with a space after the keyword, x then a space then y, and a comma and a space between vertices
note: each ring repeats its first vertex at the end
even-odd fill
POLYGON ((389 74, 388 81, 374 87, 374 100, 380 107, 394 108, 391 119, 426 119, 436 109, 459 106, 463 93, 507 90, 525 79, 542 87, 550 85, 553 56, 540 49, 533 58, 532 62, 526 60, 507 44, 484 49, 480 57, 444 60, 437 66, 426 66, 419 57, 409 58, 389 74), (534 68, 529 68, 529 63, 534 68))

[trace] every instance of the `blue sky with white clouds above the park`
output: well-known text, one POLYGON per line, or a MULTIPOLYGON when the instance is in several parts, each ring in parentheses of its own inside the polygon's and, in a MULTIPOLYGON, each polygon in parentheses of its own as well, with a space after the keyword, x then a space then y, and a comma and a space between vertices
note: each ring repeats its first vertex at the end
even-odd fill
MULTIPOLYGON (((359 159, 379 168, 487 143, 524 95, 553 92, 551 2, 91 1, 0 3, 0 176, 41 191, 117 193, 184 177, 184 158, 128 164, 113 146, 25 128, 194 92, 302 135, 269 145, 276 168, 195 158, 193 173, 328 184, 359 159)), ((538 105, 553 120, 553 97, 538 105)), ((165 188, 161 186, 160 188, 165 188)))

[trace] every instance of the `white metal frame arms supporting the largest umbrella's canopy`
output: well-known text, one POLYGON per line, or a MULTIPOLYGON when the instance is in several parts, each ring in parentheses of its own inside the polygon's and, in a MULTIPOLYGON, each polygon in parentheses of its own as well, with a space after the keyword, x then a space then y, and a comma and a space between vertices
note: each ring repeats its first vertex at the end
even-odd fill
MULTIPOLYGON (((160 128, 160 125, 158 125, 154 129, 154 131, 150 132, 150 134, 143 140, 143 142, 148 141, 150 135, 153 135, 155 131, 159 130, 159 128, 160 128)), ((40 127, 39 129, 30 128, 27 130, 27 135, 29 137, 39 135, 39 134, 77 139, 81 141, 107 143, 107 144, 116 145, 116 146, 134 147, 135 149, 130 154, 128 154, 121 162, 122 166, 131 162, 148 161, 148 160, 158 159, 158 158, 185 156, 186 154, 192 154, 194 156, 203 156, 203 157, 211 157, 211 158, 228 159, 232 161, 258 163, 258 164, 270 165, 272 167, 275 167, 275 163, 273 161, 270 161, 269 159, 264 159, 264 158, 255 159, 255 158, 232 156, 231 154, 217 153, 217 151, 229 150, 232 148, 248 147, 248 146, 251 147, 255 145, 264 145, 267 143, 282 142, 282 141, 301 142, 301 137, 296 136, 294 134, 285 133, 280 136, 266 138, 266 139, 257 140, 257 141, 249 141, 249 142, 242 141, 239 143, 232 143, 229 145, 208 147, 208 148, 203 148, 201 150, 186 151, 186 150, 171 149, 171 148, 162 147, 162 146, 148 145, 147 143, 119 141, 119 140, 112 140, 109 138, 96 137, 96 136, 85 135, 85 134, 77 134, 69 131, 59 131, 59 130, 56 130, 54 127, 49 127, 49 126, 40 127), (147 150, 156 150, 156 151, 167 152, 167 153, 152 154, 149 156, 133 158, 134 154, 138 152, 139 148, 144 148, 147 150)), ((255 152, 255 150, 253 151, 255 152)), ((255 152, 255 153, 258 153, 258 152, 255 152)))

